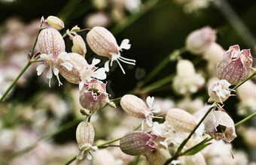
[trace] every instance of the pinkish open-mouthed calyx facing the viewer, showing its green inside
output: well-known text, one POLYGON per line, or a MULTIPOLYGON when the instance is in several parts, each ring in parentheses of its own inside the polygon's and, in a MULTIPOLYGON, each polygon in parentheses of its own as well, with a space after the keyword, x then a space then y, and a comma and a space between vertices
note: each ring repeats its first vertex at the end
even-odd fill
POLYGON ((85 83, 80 91, 79 101, 82 107, 92 112, 105 107, 105 104, 109 102, 105 83, 95 79, 85 83))

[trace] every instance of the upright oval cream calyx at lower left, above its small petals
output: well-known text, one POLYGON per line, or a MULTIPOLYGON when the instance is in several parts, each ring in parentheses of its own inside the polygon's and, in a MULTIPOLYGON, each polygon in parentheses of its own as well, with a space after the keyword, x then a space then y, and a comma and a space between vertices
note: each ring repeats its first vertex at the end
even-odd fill
POLYGON ((82 121, 80 124, 78 124, 76 130, 76 139, 79 149, 83 148, 84 144, 86 143, 93 145, 94 135, 95 132, 93 129, 93 125, 90 124, 90 122, 82 121))

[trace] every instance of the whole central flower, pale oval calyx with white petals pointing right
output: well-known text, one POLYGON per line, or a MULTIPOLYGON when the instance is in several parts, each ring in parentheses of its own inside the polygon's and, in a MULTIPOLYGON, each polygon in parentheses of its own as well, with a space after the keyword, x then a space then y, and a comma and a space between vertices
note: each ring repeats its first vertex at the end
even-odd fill
POLYGON ((129 115, 133 115, 136 118, 143 118, 142 121, 142 130, 144 130, 144 122, 148 124, 148 127, 153 126, 152 118, 160 118, 154 116, 153 113, 159 113, 160 107, 153 107, 154 97, 147 98, 147 104, 145 104, 142 99, 138 98, 135 95, 124 95, 120 100, 120 105, 123 110, 129 115))

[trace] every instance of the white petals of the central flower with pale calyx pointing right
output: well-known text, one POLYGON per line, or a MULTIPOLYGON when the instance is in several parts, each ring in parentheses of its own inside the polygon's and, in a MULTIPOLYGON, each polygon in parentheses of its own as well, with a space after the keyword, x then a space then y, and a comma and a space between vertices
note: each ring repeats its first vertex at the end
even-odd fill
POLYGON ((147 104, 148 104, 149 111, 145 111, 145 119, 143 119, 143 121, 142 121, 142 130, 144 130, 144 122, 145 121, 148 124, 148 127, 153 127, 152 118, 162 118, 162 117, 154 116, 153 113, 160 112, 160 107, 158 105, 155 105, 153 107, 153 102, 154 102, 154 97, 151 98, 150 96, 148 96, 147 104))

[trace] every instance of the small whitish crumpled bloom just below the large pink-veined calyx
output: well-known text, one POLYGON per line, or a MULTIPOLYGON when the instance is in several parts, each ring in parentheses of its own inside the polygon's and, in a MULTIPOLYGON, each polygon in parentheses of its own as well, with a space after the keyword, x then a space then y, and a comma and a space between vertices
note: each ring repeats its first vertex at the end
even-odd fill
POLYGON ((227 80, 218 80, 212 82, 208 89, 208 94, 210 96, 208 102, 218 102, 223 104, 223 102, 230 97, 230 85, 231 84, 228 83, 227 80))

